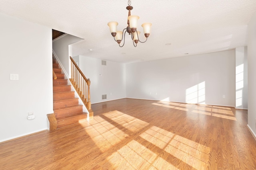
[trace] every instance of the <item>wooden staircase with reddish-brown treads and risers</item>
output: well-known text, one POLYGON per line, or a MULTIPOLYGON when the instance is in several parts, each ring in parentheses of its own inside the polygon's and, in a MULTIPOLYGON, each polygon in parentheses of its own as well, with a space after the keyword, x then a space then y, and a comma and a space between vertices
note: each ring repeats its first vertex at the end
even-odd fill
POLYGON ((78 104, 78 98, 75 98, 74 92, 71 91, 71 85, 68 85, 68 80, 65 79, 62 69, 59 68, 55 59, 52 61, 52 67, 56 79, 53 78, 54 113, 47 115, 50 131, 87 119, 87 113, 83 112, 83 106, 78 104))

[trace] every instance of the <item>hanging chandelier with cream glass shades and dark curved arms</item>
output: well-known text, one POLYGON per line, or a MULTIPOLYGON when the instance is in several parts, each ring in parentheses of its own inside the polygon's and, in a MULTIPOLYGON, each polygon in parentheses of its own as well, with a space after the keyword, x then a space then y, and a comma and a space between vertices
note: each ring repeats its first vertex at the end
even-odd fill
MULTIPOLYGON (((140 31, 137 31, 137 23, 138 23, 138 19, 140 17, 139 16, 131 16, 131 10, 133 9, 131 4, 132 4, 132 0, 128 0, 128 6, 126 7, 126 10, 129 11, 128 12, 128 20, 127 20, 128 26, 123 31, 117 31, 118 22, 111 21, 108 23, 108 26, 110 28, 110 33, 114 37, 114 40, 118 43, 119 47, 124 46, 124 43, 123 43, 123 45, 120 45, 120 43, 122 42, 122 40, 124 40, 124 42, 125 42, 126 32, 129 35, 131 35, 134 47, 137 47, 137 43, 140 41, 140 39, 139 39, 140 31)), ((144 35, 146 37, 145 41, 140 41, 141 43, 145 43, 147 41, 148 36, 150 34, 151 25, 152 25, 152 23, 143 23, 141 25, 143 27, 144 35)))

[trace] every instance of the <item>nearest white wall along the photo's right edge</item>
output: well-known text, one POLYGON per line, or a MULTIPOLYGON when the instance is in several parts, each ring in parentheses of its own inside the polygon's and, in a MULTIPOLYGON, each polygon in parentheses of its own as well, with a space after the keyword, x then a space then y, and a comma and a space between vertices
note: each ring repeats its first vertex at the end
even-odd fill
POLYGON ((256 14, 248 24, 248 127, 256 137, 256 14))

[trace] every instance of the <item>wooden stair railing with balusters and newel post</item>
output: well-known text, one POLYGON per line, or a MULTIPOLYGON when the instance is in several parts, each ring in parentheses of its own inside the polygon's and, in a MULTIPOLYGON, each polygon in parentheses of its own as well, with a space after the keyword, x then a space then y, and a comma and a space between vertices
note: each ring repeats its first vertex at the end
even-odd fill
MULTIPOLYGON (((90 79, 86 78, 80 68, 76 65, 76 62, 70 57, 71 60, 71 78, 70 81, 73 84, 76 92, 78 92, 80 98, 83 100, 86 108, 90 113, 93 112, 91 108, 91 101, 90 101, 90 79)), ((90 119, 92 118, 90 116, 90 119)))

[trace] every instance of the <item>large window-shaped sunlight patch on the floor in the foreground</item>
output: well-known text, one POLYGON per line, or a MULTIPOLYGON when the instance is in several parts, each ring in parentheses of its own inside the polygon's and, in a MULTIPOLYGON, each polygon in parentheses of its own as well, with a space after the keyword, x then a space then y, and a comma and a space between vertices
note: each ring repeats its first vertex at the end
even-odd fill
POLYGON ((102 152, 124 143, 107 158, 114 169, 175 169, 173 159, 190 168, 207 167, 209 147, 120 111, 94 116, 90 124, 86 132, 102 152), (143 128, 147 129, 139 132, 143 128), (135 138, 126 142, 130 135, 135 138))

